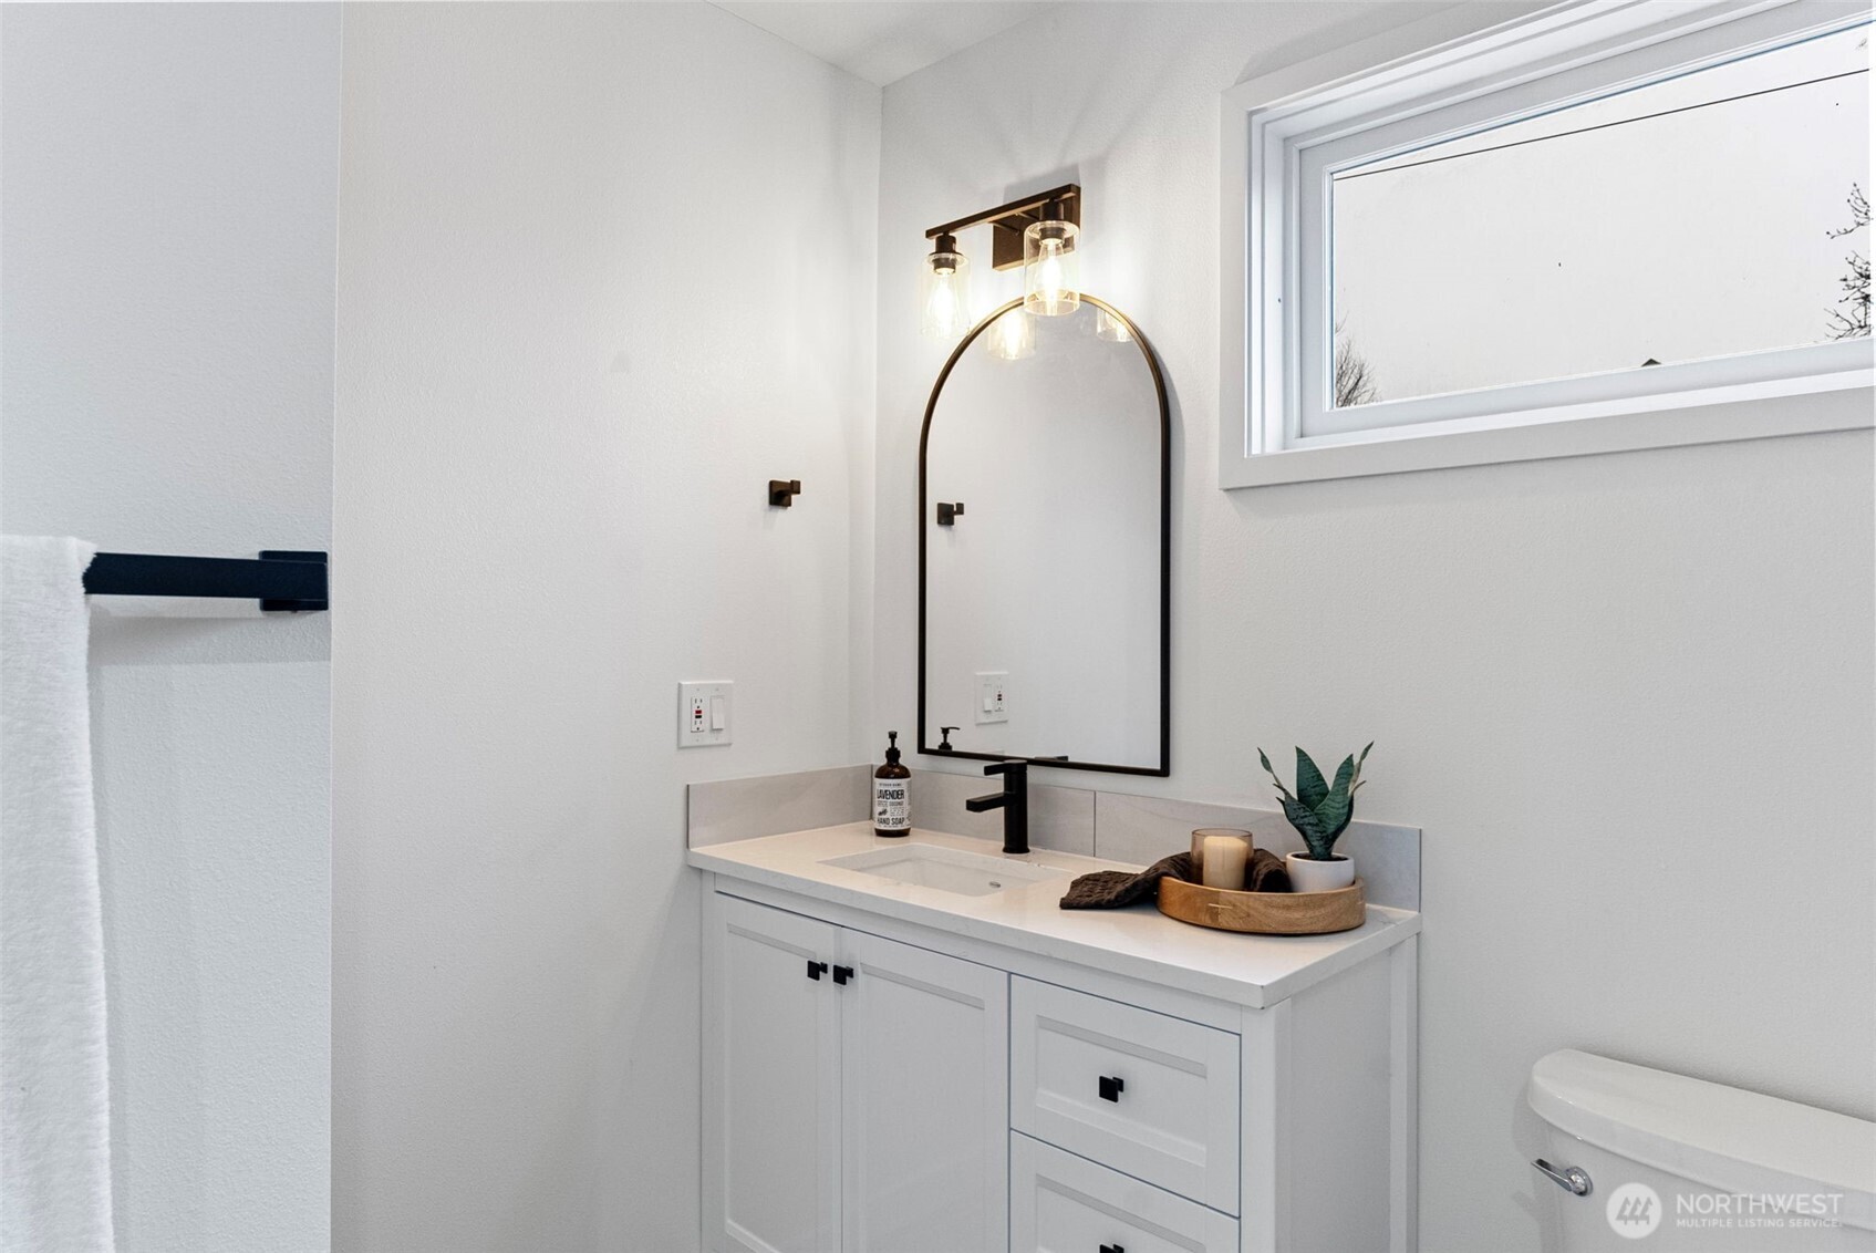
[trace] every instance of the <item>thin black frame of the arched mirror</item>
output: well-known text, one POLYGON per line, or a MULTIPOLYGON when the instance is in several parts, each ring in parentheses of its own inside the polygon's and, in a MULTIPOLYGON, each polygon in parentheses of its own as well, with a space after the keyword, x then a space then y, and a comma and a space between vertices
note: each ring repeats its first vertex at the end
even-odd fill
MULTIPOLYGON (((1159 371, 1159 358, 1154 355, 1152 343, 1141 334, 1141 328, 1133 321, 1107 304, 1086 293, 1081 296, 1084 302, 1101 309, 1120 325, 1127 328, 1133 336, 1133 343, 1139 345, 1141 355, 1146 358, 1146 368, 1154 375, 1154 394, 1159 398, 1159 765, 1105 765, 1101 762, 1066 762, 1062 758, 1024 758, 1030 765, 1047 765, 1064 771, 1103 771, 1109 775, 1157 775, 1167 777, 1172 773, 1172 411, 1167 405, 1167 383, 1165 375, 1159 371)), ((930 400, 925 401, 925 426, 919 430, 919 743, 917 750, 921 754, 932 754, 942 758, 970 758, 977 762, 1004 762, 1013 758, 1009 752, 964 752, 962 748, 936 748, 925 741, 925 621, 927 621, 927 602, 925 602, 925 514, 927 514, 927 445, 932 435, 932 415, 938 411, 938 394, 944 392, 946 379, 951 377, 951 368, 962 360, 970 345, 981 336, 991 323, 994 323, 1004 313, 1022 306, 1022 300, 1011 300, 996 309, 992 309, 983 321, 970 328, 959 345, 946 358, 944 370, 938 371, 938 381, 932 385, 930 400)))

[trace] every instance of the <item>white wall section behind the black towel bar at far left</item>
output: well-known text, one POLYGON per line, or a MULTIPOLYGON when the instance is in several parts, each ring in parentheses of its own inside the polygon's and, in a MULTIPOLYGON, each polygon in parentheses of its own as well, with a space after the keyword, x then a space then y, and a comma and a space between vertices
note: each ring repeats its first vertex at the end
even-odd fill
MULTIPOLYGON (((0 9, 0 525, 326 548, 340 13, 0 9)), ((328 1214, 326 615, 98 600, 118 1247, 328 1214)))

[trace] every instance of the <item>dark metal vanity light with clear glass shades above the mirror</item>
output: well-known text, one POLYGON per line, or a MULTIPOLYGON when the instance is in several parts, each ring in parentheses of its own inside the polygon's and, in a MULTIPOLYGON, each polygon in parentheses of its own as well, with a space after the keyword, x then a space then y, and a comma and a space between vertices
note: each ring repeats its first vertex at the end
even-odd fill
POLYGON ((1006 313, 987 336, 992 356, 1021 360, 1036 351, 1030 313, 1056 317, 1081 304, 1081 188, 1067 182, 925 233, 932 251, 925 257, 923 330, 934 340, 957 340, 972 326, 970 261, 957 233, 979 225, 991 227, 991 268, 1022 266, 1024 315, 1006 313))

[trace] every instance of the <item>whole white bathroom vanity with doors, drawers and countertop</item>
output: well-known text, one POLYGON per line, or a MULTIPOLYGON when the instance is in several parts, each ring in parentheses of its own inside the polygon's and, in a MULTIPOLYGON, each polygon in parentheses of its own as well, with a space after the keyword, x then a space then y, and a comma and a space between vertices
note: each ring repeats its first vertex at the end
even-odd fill
MULTIPOLYGON (((869 838, 809 835, 812 867, 869 838)), ((869 897, 784 874, 790 838, 692 850, 705 1249, 1413 1253, 1418 913, 869 897)))

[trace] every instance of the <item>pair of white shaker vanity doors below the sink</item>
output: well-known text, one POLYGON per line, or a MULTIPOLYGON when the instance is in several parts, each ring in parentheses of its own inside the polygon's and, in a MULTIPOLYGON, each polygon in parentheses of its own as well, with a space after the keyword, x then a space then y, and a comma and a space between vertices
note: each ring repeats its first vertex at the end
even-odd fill
POLYGON ((735 897, 709 908, 705 1247, 1007 1247, 1007 977, 735 897))

